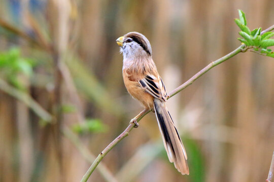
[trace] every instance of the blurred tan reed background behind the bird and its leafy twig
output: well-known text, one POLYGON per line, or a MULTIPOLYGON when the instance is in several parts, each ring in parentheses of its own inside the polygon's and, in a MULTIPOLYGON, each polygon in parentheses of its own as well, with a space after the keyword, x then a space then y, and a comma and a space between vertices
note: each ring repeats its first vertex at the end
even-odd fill
MULTIPOLYGON (((237 9, 274 24, 272 0, 0 0, 0 181, 80 181, 142 111, 115 40, 148 37, 171 92, 236 49, 237 9)), ((169 163, 154 113, 88 181, 264 181, 274 149, 274 61, 240 53, 167 104, 190 175, 169 163)))

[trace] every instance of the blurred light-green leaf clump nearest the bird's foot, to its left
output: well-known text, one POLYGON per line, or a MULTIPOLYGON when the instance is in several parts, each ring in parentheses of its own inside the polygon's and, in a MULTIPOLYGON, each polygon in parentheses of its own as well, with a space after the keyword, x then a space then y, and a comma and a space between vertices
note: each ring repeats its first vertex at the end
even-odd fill
POLYGON ((83 134, 92 132, 106 132, 108 126, 103 124, 100 119, 86 119, 86 122, 73 125, 73 131, 83 134))

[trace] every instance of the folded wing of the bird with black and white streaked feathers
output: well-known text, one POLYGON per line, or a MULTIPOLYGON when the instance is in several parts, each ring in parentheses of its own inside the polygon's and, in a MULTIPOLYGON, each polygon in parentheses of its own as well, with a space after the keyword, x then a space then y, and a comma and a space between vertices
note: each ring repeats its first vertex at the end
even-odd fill
POLYGON ((146 75, 143 79, 138 81, 142 88, 153 97, 166 101, 167 94, 165 86, 160 76, 154 76, 152 74, 146 75))

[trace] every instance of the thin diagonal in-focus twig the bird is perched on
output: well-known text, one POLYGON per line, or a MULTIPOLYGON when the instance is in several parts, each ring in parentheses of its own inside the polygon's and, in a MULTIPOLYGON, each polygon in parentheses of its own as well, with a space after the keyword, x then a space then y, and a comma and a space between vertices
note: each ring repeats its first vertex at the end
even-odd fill
MULTIPOLYGON (((207 71, 209 71, 211 68, 217 66, 218 64, 228 60, 229 58, 232 58, 233 56, 237 55, 238 53, 241 53, 242 50, 244 50, 246 47, 245 44, 242 44, 240 47, 238 47, 237 49, 235 49, 234 51, 232 51, 231 53, 227 54, 226 56, 211 62, 208 66, 204 67, 201 71, 199 71, 198 73, 196 73, 194 76, 192 76, 189 80, 187 80, 184 84, 182 84, 181 86, 179 86, 178 88, 176 88, 175 90, 173 90, 167 99, 173 97, 174 95, 178 94, 179 92, 181 92, 184 88, 186 88, 187 86, 191 85, 196 79, 198 79, 201 75, 203 75, 204 73, 206 73, 207 71)), ((137 119, 137 121, 140 121, 146 114, 148 114, 150 111, 147 110, 143 110, 138 116, 135 116, 134 118, 137 119)), ((134 119, 133 118, 133 119, 134 119)), ((100 163, 100 161, 102 160, 102 158, 104 158, 107 153, 118 143, 120 142, 123 138, 125 138, 129 132, 131 131, 131 129, 134 127, 134 124, 130 123, 127 128, 114 140, 112 141, 108 147, 106 147, 99 155, 98 157, 94 160, 94 162, 91 164, 91 166, 89 167, 89 169, 87 170, 87 172, 85 173, 85 175, 83 176, 81 182, 86 182, 89 178, 89 176, 91 175, 91 173, 94 171, 94 169, 96 168, 96 166, 100 163)))

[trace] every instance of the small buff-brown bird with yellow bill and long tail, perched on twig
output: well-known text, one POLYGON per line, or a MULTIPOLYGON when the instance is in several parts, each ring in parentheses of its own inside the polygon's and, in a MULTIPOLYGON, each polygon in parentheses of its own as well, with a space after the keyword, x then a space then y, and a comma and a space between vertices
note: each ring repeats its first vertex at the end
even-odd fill
MULTIPOLYGON (((169 161, 180 173, 188 175, 186 150, 167 110, 168 95, 152 59, 148 38, 139 32, 129 32, 117 38, 116 42, 123 54, 122 75, 127 92, 146 110, 155 112, 169 161)), ((138 127, 135 118, 130 123, 138 127)))

